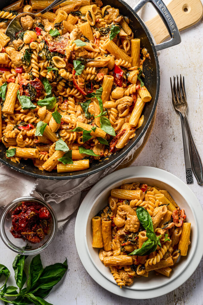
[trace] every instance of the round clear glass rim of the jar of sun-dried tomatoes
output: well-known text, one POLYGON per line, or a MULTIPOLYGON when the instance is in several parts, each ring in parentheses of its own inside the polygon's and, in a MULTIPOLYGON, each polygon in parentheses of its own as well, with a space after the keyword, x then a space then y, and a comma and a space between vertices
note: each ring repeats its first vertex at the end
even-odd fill
POLYGON ((14 252, 16 252, 18 254, 35 255, 35 254, 41 253, 44 249, 46 249, 51 244, 51 242, 53 241, 53 239, 56 236, 57 224, 58 224, 58 222, 57 222, 56 213, 53 210, 53 208, 50 206, 49 203, 45 202, 43 199, 39 199, 39 198, 34 197, 34 196, 23 196, 23 197, 19 197, 19 198, 16 198, 16 199, 12 200, 3 209, 3 211, 2 211, 2 213, 0 215, 0 237, 1 237, 2 241, 4 242, 4 244, 9 249, 11 249, 12 251, 14 251, 14 252), (49 239, 42 246, 40 246, 39 248, 33 249, 33 250, 26 250, 26 249, 21 249, 20 250, 19 247, 16 247, 13 244, 13 242, 11 242, 7 238, 7 236, 5 234, 4 223, 5 223, 6 215, 7 215, 8 211, 12 207, 16 206, 18 203, 20 203, 20 201, 28 201, 28 200, 34 200, 35 202, 42 204, 43 206, 45 206, 49 210, 49 212, 51 213, 51 216, 52 216, 53 229, 52 229, 52 232, 51 232, 51 234, 49 236, 49 239))

